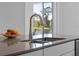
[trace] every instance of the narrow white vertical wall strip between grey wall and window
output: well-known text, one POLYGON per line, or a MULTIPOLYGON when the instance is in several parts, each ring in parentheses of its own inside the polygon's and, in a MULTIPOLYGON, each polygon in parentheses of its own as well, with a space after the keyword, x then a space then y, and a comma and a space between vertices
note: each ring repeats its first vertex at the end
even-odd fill
POLYGON ((25 3, 25 34, 29 35, 30 17, 33 14, 33 2, 25 3))

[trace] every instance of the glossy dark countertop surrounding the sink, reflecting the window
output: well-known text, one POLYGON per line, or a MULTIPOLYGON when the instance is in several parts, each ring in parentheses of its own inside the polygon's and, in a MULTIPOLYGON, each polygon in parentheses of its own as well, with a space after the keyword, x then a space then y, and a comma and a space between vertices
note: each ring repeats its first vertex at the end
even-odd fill
POLYGON ((79 39, 79 36, 69 36, 69 35, 60 35, 53 38, 39 38, 32 40, 25 40, 25 38, 16 38, 16 39, 1 39, 0 40, 0 55, 6 56, 16 56, 24 53, 30 53, 33 51, 37 51, 43 48, 48 48, 51 46, 56 46, 59 44, 64 44, 67 42, 71 42, 79 39), (53 40, 48 41, 46 43, 32 43, 34 40, 42 40, 42 39, 56 39, 56 38, 64 38, 61 40, 53 40))

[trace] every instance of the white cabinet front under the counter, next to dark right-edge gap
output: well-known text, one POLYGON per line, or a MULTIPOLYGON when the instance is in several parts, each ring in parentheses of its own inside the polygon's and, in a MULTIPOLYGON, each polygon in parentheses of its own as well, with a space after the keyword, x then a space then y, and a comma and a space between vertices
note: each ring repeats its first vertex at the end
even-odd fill
POLYGON ((44 49, 45 56, 60 56, 74 49, 74 41, 44 49))

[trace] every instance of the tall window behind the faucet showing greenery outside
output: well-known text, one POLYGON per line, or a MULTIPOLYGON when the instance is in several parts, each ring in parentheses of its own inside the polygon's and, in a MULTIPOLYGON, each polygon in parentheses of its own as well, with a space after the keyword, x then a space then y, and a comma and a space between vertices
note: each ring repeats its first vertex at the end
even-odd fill
POLYGON ((33 28, 32 28, 33 38, 52 37, 53 3, 52 2, 34 3, 33 14, 39 14, 42 17, 42 21, 44 24, 44 27, 42 27, 39 18, 38 17, 35 18, 35 21, 33 21, 33 28))

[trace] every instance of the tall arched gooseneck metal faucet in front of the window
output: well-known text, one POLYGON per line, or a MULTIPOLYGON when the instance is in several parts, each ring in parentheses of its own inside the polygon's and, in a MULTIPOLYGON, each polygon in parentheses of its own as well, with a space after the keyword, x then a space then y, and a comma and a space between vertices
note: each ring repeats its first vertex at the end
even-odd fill
MULTIPOLYGON (((40 18, 40 22, 41 22, 41 25, 43 27, 43 20, 42 20, 42 17, 39 15, 39 14, 33 14, 31 17, 30 17, 30 28, 29 28, 29 40, 32 39, 32 18, 34 16, 38 16, 40 18)), ((42 28, 44 30, 44 28, 42 28)), ((43 31, 44 32, 44 31, 43 31)), ((43 34, 42 34, 43 35, 43 34)))

